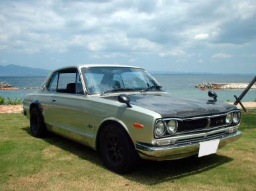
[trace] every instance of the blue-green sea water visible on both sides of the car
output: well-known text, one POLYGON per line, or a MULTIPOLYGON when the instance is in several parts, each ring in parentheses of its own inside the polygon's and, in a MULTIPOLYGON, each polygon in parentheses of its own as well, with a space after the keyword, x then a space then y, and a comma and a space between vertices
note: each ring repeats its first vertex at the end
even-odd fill
MULTIPOLYGON (((206 82, 251 82, 253 76, 249 75, 187 75, 187 74, 167 74, 153 75, 155 79, 163 86, 163 88, 175 95, 184 95, 186 97, 200 97, 208 99, 208 91, 202 91, 194 88, 196 84, 206 82)), ((28 90, 0 90, 0 96, 15 98, 23 98, 24 95, 38 90, 29 88, 40 88, 46 76, 0 76, 0 82, 8 82, 17 88, 28 88, 28 90)), ((218 94, 218 99, 222 101, 235 101, 234 95, 237 97, 243 90, 214 90, 218 94)), ((255 101, 256 90, 249 90, 242 101, 255 101)))

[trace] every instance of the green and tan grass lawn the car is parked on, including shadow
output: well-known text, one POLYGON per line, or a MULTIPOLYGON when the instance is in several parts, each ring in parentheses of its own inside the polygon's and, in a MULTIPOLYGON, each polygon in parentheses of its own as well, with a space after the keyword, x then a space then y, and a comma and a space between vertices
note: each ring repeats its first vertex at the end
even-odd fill
POLYGON ((52 135, 34 138, 21 114, 0 115, 0 190, 255 190, 256 110, 243 136, 216 155, 142 161, 128 174, 105 169, 96 151, 52 135))

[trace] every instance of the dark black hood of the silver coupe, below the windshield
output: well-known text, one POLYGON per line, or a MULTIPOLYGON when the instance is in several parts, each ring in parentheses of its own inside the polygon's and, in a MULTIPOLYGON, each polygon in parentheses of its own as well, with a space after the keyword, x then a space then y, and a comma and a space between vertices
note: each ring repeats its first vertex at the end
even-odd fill
MULTIPOLYGON (((194 99, 173 94, 134 94, 128 95, 131 105, 137 105, 155 111, 161 117, 198 117, 227 113, 237 109, 234 105, 222 101, 212 102, 212 98, 194 99)), ((117 96, 103 97, 117 101, 117 96)))

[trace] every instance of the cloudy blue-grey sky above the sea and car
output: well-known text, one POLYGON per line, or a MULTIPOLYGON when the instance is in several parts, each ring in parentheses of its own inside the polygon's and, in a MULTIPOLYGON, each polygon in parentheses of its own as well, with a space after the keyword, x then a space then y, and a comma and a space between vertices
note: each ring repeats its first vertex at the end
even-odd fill
POLYGON ((0 1, 0 65, 256 73, 256 1, 0 1))

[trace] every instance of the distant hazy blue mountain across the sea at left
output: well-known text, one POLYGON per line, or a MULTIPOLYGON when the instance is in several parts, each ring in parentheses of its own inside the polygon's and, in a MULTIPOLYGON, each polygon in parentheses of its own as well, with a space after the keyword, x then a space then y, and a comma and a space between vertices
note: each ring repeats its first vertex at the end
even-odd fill
POLYGON ((0 65, 0 76, 46 76, 50 70, 22 67, 19 65, 0 65))

